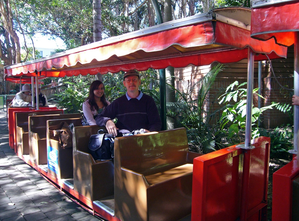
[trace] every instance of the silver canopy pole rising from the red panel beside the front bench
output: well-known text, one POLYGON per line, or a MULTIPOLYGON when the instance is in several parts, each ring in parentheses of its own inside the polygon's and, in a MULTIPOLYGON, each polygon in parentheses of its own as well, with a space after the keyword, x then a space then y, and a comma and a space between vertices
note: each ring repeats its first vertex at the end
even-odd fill
POLYGON ((248 66, 247 66, 247 102, 246 102, 246 122, 245 122, 245 143, 237 145, 243 149, 253 149, 251 146, 251 115, 253 100, 253 73, 254 73, 254 52, 248 47, 248 66))

